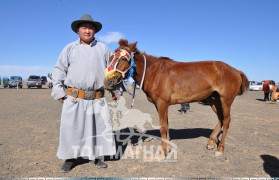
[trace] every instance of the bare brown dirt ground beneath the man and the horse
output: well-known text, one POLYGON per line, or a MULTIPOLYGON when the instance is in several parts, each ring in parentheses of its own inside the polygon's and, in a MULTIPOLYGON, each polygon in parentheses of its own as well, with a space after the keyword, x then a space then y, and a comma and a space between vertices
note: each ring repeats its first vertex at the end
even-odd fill
MULTIPOLYGON (((174 150, 169 160, 156 161, 159 139, 134 143, 135 138, 128 138, 128 144, 121 145, 124 154, 107 159, 107 169, 81 161, 67 174, 59 172, 63 161, 56 157, 62 104, 52 100, 50 92, 46 87, 1 86, 0 177, 279 177, 279 102, 263 102, 263 92, 237 96, 221 157, 206 149, 217 123, 210 107, 192 103, 190 112, 180 114, 180 105, 173 105, 169 123, 174 150)), ((124 97, 129 107, 131 97, 124 97)), ((158 125, 155 107, 142 92, 134 108, 150 114, 152 124, 158 125)), ((146 127, 145 134, 159 135, 150 123, 146 127)))

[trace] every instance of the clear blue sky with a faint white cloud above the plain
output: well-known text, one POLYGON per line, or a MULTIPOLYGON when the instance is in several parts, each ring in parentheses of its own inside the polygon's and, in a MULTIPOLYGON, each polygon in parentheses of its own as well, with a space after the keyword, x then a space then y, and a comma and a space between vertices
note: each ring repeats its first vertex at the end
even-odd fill
POLYGON ((220 60, 279 81, 279 0, 1 0, 0 76, 51 72, 89 13, 111 50, 120 38, 176 61, 220 60))

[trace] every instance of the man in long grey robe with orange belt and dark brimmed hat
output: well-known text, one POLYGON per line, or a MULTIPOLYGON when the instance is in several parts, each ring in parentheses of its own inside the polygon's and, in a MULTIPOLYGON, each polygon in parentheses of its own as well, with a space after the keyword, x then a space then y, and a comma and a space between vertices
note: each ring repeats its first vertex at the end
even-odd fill
POLYGON ((116 153, 103 88, 112 53, 94 38, 102 24, 84 14, 71 27, 79 39, 64 47, 52 74, 51 95, 63 103, 57 156, 66 161, 61 172, 70 171, 78 157, 106 168, 103 157, 116 153))

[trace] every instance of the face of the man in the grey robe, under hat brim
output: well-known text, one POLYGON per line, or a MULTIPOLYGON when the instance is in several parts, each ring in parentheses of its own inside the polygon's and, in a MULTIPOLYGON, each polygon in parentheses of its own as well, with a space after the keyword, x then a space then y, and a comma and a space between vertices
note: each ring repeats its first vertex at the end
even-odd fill
POLYGON ((82 23, 77 33, 82 44, 90 44, 94 39, 95 27, 91 23, 82 23))

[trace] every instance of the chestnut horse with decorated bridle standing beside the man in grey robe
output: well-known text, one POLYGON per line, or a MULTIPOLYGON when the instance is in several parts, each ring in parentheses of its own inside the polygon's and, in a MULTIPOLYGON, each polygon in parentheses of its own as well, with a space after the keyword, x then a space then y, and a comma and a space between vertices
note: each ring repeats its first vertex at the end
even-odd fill
POLYGON ((210 105, 217 114, 218 123, 211 133, 207 149, 218 144, 218 134, 223 128, 221 141, 215 151, 221 156, 231 121, 231 106, 237 95, 249 89, 246 75, 221 61, 176 62, 166 57, 154 57, 140 52, 136 44, 119 41, 119 48, 106 69, 105 88, 112 91, 134 69, 133 78, 147 99, 159 113, 162 150, 168 153, 168 107, 173 104, 202 102, 210 105), (135 66, 131 65, 134 62, 135 66))

